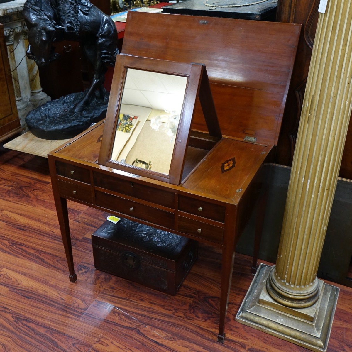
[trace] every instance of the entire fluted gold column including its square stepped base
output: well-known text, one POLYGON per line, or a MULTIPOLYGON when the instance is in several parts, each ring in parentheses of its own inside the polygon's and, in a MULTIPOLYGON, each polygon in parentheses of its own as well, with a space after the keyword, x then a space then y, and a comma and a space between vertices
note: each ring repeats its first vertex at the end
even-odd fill
POLYGON ((259 268, 237 314, 313 351, 327 349, 339 291, 316 273, 351 115, 351 19, 351 1, 319 15, 277 263, 259 268))

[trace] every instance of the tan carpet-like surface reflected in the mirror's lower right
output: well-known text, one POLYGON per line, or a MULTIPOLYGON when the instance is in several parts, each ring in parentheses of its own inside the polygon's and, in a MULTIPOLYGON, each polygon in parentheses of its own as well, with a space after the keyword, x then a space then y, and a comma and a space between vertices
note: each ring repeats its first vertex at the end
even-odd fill
POLYGON ((150 127, 150 121, 146 121, 139 136, 127 155, 126 163, 132 164, 136 159, 151 161, 152 171, 169 174, 172 152, 174 151, 175 136, 166 134, 165 123, 158 131, 150 127))

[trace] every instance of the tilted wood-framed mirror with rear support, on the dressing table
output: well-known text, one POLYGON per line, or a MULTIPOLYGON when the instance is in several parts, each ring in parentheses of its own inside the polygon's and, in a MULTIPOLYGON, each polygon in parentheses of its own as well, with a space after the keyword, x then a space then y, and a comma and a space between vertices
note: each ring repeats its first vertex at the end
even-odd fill
POLYGON ((213 130, 218 120, 205 65, 119 54, 98 164, 179 184, 197 96, 213 130))

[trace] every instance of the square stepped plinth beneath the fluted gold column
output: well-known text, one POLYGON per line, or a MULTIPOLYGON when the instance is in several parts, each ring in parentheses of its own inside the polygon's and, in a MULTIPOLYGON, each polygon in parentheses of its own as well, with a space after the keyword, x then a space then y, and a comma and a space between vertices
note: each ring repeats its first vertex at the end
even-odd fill
POLYGON ((326 351, 339 288, 320 280, 318 301, 308 308, 289 308, 266 290, 272 266, 260 264, 236 315, 236 321, 312 351, 326 351))

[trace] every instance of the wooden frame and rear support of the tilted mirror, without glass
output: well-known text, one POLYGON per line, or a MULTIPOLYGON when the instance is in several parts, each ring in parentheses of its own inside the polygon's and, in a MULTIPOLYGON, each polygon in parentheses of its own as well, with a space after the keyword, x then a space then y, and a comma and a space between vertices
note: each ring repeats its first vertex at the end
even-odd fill
MULTIPOLYGON (((154 180, 164 181, 171 184, 179 184, 181 181, 187 145, 189 142, 189 134, 194 114, 195 102, 198 95, 200 99, 203 98, 201 99, 201 102, 202 100, 206 102, 207 109, 213 113, 212 119, 214 120, 215 107, 210 93, 210 86, 205 65, 194 63, 186 64, 119 54, 114 69, 113 82, 106 113, 98 164, 129 172, 134 175, 152 178, 154 180), (181 109, 180 120, 177 128, 174 151, 172 153, 169 174, 167 175, 153 170, 138 168, 136 166, 121 163, 111 159, 122 94, 124 90, 127 69, 129 68, 187 77, 186 92, 184 95, 183 106, 181 109), (207 89, 202 88, 203 86, 205 86, 207 89), (202 94, 199 94, 200 90, 202 94), (209 105, 212 108, 209 109, 209 105)), ((209 118, 206 118, 206 120, 209 121, 210 119, 210 116, 209 118)), ((215 121, 217 121, 216 113, 215 121)), ((221 137, 220 127, 218 126, 218 131, 215 134, 219 135, 219 133, 221 137)))

